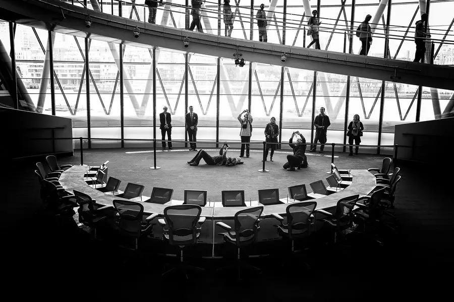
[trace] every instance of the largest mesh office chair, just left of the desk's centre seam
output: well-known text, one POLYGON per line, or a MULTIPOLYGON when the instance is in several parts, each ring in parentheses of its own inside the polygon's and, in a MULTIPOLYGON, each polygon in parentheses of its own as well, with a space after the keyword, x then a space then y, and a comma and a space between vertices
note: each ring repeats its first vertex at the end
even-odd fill
POLYGON ((183 249, 186 246, 196 245, 199 239, 202 224, 206 220, 205 217, 200 217, 201 213, 202 208, 199 205, 169 206, 164 209, 164 219, 158 219, 158 223, 163 228, 164 238, 169 245, 177 246, 180 252, 180 262, 176 267, 164 272, 163 277, 181 270, 188 279, 186 272, 188 269, 205 271, 200 267, 186 265, 183 261, 183 249))

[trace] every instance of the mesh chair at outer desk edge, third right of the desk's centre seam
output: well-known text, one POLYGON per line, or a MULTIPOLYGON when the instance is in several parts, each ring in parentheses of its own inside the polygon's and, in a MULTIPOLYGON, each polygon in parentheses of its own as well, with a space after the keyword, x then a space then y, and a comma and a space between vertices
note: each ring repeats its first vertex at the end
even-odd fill
POLYGON ((323 218, 319 219, 324 221, 328 226, 334 228, 334 242, 337 237, 341 236, 345 230, 353 227, 353 218, 355 217, 353 209, 358 202, 359 195, 352 195, 341 198, 337 201, 334 214, 319 209, 316 211, 317 216, 322 214, 323 218))

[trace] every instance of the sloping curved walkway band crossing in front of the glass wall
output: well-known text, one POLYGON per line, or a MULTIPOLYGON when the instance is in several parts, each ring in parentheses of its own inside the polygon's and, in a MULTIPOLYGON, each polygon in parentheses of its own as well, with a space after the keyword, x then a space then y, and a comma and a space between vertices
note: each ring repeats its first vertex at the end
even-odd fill
POLYGON ((454 89, 454 68, 447 66, 202 34, 95 12, 58 0, 0 0, 0 6, 4 9, 0 18, 4 20, 95 40, 226 58, 234 58, 233 54, 238 52, 248 62, 454 89), (90 28, 85 27, 87 15, 92 20, 90 28), (136 26, 140 29, 138 38, 133 35, 136 26), (185 37, 189 38, 187 48, 183 43, 185 37), (281 62, 282 53, 287 54, 286 62, 281 62))

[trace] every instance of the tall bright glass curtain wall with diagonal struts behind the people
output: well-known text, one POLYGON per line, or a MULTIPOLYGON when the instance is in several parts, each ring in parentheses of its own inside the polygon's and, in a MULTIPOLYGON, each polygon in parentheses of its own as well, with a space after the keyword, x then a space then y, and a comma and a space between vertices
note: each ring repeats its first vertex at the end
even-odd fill
MULTIPOLYGON (((67 1, 72 3, 72 1, 67 1)), ((116 1, 98 3, 105 13, 121 15, 133 20, 148 20, 148 9, 141 1, 127 1, 120 6, 116 1), (139 6, 133 6, 133 4, 139 6)), ((83 1, 81 1, 83 3, 83 1)), ((190 2, 189 2, 190 3, 190 2)), ((204 32, 224 35, 222 12, 217 1, 205 3, 202 13, 204 32), (220 19, 217 19, 220 16, 220 19)), ((354 29, 367 14, 376 17, 377 27, 369 55, 412 61, 415 43, 414 24, 420 19, 419 3, 393 0, 390 15, 387 7, 377 11, 379 0, 355 0, 354 29), (405 36, 389 37, 389 48, 384 49, 384 28, 389 17, 391 33, 405 36)), ((79 2, 75 5, 81 6, 79 2)), ((156 24, 185 28, 185 0, 174 0, 173 5, 158 7, 156 24), (171 12, 172 11, 172 12, 171 12)), ((234 31, 232 37, 258 41, 255 15, 261 2, 232 0, 234 31), (251 10, 252 6, 252 10, 251 10), (251 19, 252 15, 252 19, 251 19), (252 31, 251 31, 252 29, 252 31)), ((88 8, 92 9, 90 2, 88 8)), ((310 11, 320 7, 319 16, 321 48, 329 51, 360 50, 360 41, 346 34, 352 19, 353 0, 320 0, 310 2, 310 11)), ((454 2, 432 1, 429 26, 434 39, 452 40, 454 17, 446 13, 454 10, 454 2)), ((311 36, 305 35, 307 18, 301 0, 271 1, 265 3, 269 19, 268 42, 307 46, 311 36), (276 7, 270 7, 276 3, 276 7), (287 26, 283 28, 284 4, 287 3, 287 26), (283 37, 286 37, 283 39, 283 37)), ((50 91, 48 63, 48 31, 18 24, 15 35, 17 71, 24 82, 38 112, 51 114, 51 94, 55 97, 55 114, 73 119, 73 135, 91 138, 152 139, 153 109, 157 120, 156 138, 160 138, 158 114, 166 105, 173 115, 173 139, 184 140, 184 115, 188 105, 199 114, 200 140, 216 138, 219 123, 219 141, 239 141, 237 116, 249 108, 255 118, 252 140, 263 140, 263 128, 271 116, 282 124, 282 142, 299 130, 309 142, 313 137, 312 112, 318 114, 325 107, 332 126, 328 131, 328 144, 343 143, 345 124, 360 114, 365 131, 362 144, 391 145, 395 124, 418 120, 418 86, 382 82, 367 78, 347 77, 336 74, 314 73, 294 68, 281 68, 245 62, 244 67, 234 64, 231 58, 207 57, 194 53, 181 53, 172 49, 140 48, 108 44, 55 33, 53 36, 53 77, 55 90, 50 91), (86 83, 85 47, 89 48, 89 89, 86 83), (155 56, 153 57, 153 51, 155 56), (123 65, 120 66, 120 54, 123 65), (153 70, 155 60, 156 69, 153 70), (218 66, 218 63, 219 66, 218 66), (123 70, 123 77, 120 72, 123 70), (219 73, 218 73, 219 70, 219 73), (282 74, 283 72, 283 74, 282 74), (283 76, 283 83, 281 77, 283 76), (123 78, 123 79, 121 79, 123 78), (123 82, 121 81, 123 80, 123 82), (220 85, 217 87, 217 82, 220 85), (153 87, 155 83, 155 87, 153 87), (315 85, 314 85, 315 84, 315 85), (315 87, 315 89, 314 89, 315 87), (122 88, 122 89, 121 89, 122 88), (282 91, 281 91, 282 89, 282 91), (153 99, 153 90, 156 91, 153 99), (219 91, 219 94, 217 94, 219 91), (123 93, 122 93, 123 92, 123 93), (123 106, 122 106, 123 101, 123 106), (219 104, 216 106, 216 104, 219 104), (282 104, 282 105, 281 105, 282 104), (90 111, 87 111, 87 108, 90 111), (346 110, 347 108, 347 110, 346 110), (123 110, 123 111, 122 111, 123 110), (219 120, 216 120, 219 112, 219 120), (380 116, 382 112, 382 116, 380 116), (123 131, 122 125, 123 119, 123 131), (282 116, 282 120, 280 120, 282 116), (89 117, 89 118, 88 118, 89 117), (381 129, 381 133, 379 133, 381 129), (89 131, 90 130, 90 131, 89 131)), ((0 38, 7 51, 10 49, 9 24, 0 22, 0 38)), ((434 42, 434 64, 454 65, 452 43, 434 42)), ((422 87, 420 120, 439 118, 452 111, 447 108, 453 91, 422 87)), ((119 147, 120 142, 92 140, 92 147, 119 147)), ((126 142, 126 147, 144 146, 142 142, 126 142)), ((363 149, 363 148, 362 148, 363 149)), ((388 150, 381 150, 387 152, 388 150)))

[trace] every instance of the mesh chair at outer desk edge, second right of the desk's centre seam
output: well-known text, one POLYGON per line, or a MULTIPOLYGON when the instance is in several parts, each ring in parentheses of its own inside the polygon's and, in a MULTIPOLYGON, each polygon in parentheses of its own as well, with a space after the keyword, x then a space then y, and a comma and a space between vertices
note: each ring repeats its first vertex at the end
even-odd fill
POLYGON ((297 239, 308 238, 312 230, 312 212, 317 203, 315 201, 297 202, 286 208, 287 224, 279 214, 271 214, 280 221, 276 225, 277 233, 283 238, 292 240, 292 253, 295 251, 294 242, 297 239))

